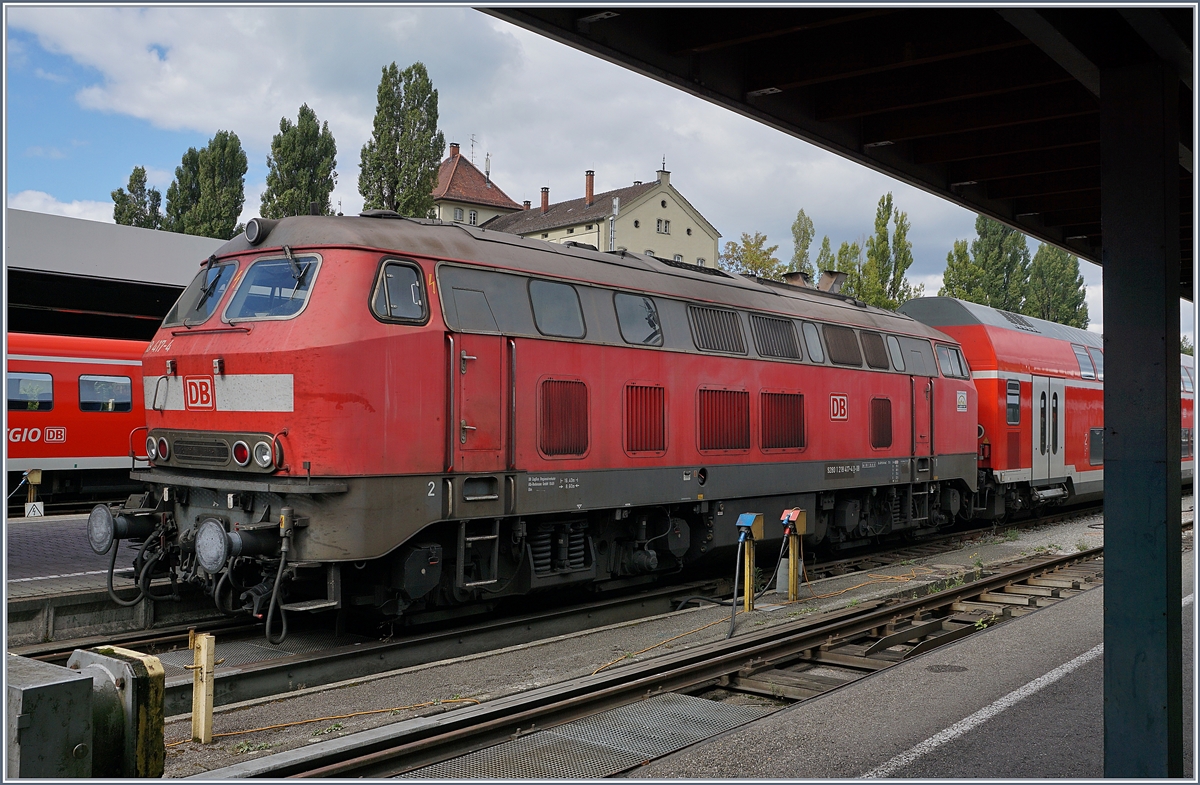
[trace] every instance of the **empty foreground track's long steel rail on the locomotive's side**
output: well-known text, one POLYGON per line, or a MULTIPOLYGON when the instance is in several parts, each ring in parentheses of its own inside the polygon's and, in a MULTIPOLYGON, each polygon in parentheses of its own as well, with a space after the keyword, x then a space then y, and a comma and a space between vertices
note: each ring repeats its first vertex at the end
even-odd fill
POLYGON ((731 640, 631 663, 610 672, 247 761, 208 772, 204 777, 392 777, 659 693, 713 683, 743 667, 794 658, 839 639, 886 627, 913 613, 953 605, 1038 573, 1097 558, 1102 553, 1103 549, 1092 549, 1068 556, 1030 559, 1016 569, 913 600, 872 601, 818 619, 784 623, 731 640))

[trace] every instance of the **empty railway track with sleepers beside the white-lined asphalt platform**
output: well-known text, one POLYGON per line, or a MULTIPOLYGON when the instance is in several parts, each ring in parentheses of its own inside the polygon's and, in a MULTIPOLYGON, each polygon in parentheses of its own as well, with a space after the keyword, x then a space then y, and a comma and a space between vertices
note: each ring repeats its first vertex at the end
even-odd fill
MULTIPOLYGON (((678 713, 714 690, 769 695, 780 702, 806 700, 1098 586, 1103 571, 1103 549, 1028 558, 995 575, 935 585, 929 587, 931 593, 907 601, 864 603, 820 618, 745 631, 565 683, 246 761, 205 777, 442 778, 463 771, 475 777, 538 777, 529 768, 536 761, 528 756, 538 738, 563 744, 590 732, 595 742, 598 729, 622 725, 613 720, 622 712, 668 703, 678 713), (830 669, 840 676, 830 676, 830 669), (554 738, 539 737, 545 733, 554 738), (511 754, 506 754, 504 745, 521 749, 509 748, 511 754), (480 768, 484 759, 516 761, 518 769, 480 768)), ((755 718, 752 712, 740 714, 742 721, 755 718)), ((628 736, 629 727, 624 732, 628 736)), ((701 739, 677 741, 682 743, 661 754, 701 739)), ((644 755, 634 763, 617 761, 618 768, 606 773, 559 769, 558 775, 612 775, 642 760, 644 755)))

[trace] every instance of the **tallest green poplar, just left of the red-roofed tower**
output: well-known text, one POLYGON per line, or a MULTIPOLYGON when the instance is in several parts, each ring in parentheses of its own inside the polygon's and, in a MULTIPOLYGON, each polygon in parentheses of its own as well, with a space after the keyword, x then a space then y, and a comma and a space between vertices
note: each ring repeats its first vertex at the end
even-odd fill
POLYGON ((359 193, 366 209, 425 217, 445 137, 438 131, 438 91, 421 62, 383 68, 371 139, 362 145, 359 193))

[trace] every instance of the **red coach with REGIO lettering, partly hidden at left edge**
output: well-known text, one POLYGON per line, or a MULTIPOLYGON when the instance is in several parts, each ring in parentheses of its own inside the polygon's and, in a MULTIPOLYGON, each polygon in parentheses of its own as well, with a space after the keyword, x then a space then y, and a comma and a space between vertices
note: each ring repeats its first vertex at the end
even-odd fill
POLYGON ((142 489, 130 479, 130 433, 145 426, 145 341, 8 334, 10 493, 30 469, 41 471, 37 496, 52 505, 142 489))

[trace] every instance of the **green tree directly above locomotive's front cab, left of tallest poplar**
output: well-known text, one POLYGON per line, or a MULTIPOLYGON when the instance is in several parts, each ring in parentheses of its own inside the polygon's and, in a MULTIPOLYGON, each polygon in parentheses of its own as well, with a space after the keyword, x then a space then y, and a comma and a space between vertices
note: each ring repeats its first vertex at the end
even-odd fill
POLYGON ((329 194, 337 185, 335 166, 337 143, 329 132, 329 122, 318 122, 317 113, 307 103, 300 107, 295 125, 289 118, 281 118, 280 132, 271 139, 271 154, 266 156, 260 215, 264 218, 305 215, 313 202, 322 215, 330 215, 329 194))

